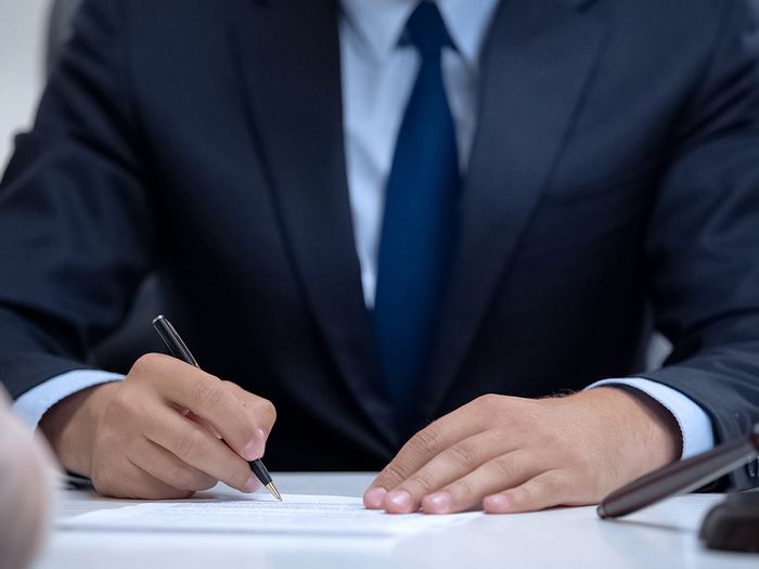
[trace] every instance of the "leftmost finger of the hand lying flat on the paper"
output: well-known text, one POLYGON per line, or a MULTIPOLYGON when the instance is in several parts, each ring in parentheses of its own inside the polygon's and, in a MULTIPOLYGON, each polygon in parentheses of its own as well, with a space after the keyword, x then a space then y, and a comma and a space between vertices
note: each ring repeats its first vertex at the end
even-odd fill
POLYGON ((476 412, 473 402, 420 430, 371 483, 363 496, 364 505, 370 509, 382 508, 388 490, 399 486, 433 456, 467 437, 481 432, 487 425, 486 421, 481 413, 476 412))

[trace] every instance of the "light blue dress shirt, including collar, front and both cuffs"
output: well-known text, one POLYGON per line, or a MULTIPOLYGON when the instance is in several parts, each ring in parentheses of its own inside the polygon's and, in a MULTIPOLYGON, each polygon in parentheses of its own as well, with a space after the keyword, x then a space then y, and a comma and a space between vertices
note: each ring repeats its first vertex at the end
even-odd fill
MULTIPOLYGON (((442 53, 442 72, 456 127, 461 169, 465 176, 477 119, 478 61, 499 0, 437 0, 455 50, 442 53)), ((396 138, 420 66, 412 47, 399 47, 411 0, 342 0, 339 18, 343 77, 343 126, 356 250, 368 307, 374 306, 377 257, 396 138)), ((52 404, 92 385, 118 379, 104 372, 74 371, 41 384, 14 408, 36 426, 52 404)), ((711 421, 683 393, 643 378, 606 379, 589 386, 619 385, 645 392, 676 417, 683 439, 682 456, 713 447, 711 421)))

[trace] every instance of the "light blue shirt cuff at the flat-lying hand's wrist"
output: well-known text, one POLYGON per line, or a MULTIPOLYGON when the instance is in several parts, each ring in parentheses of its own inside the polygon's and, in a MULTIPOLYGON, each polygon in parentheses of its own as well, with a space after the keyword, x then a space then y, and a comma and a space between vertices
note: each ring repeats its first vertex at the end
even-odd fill
POLYGON ((623 385, 643 391, 672 414, 678 422, 683 439, 681 458, 700 454, 715 447, 715 434, 709 415, 687 396, 664 384, 642 377, 604 379, 588 386, 586 389, 614 385, 623 385))

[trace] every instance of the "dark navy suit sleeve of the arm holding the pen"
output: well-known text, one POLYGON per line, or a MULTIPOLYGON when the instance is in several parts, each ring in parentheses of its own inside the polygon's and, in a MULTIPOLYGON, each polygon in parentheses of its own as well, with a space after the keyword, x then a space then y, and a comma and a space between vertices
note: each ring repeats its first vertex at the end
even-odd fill
POLYGON ((0 380, 14 399, 86 368, 152 263, 121 5, 85 2, 0 183, 0 380))

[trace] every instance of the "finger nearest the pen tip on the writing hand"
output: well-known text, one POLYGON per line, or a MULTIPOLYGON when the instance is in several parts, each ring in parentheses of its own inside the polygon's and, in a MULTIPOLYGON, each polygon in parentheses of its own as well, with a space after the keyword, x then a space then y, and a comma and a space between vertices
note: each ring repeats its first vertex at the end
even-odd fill
POLYGON ((254 492, 260 486, 248 463, 195 422, 158 403, 145 403, 142 434, 180 461, 236 488, 254 492))

